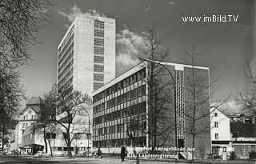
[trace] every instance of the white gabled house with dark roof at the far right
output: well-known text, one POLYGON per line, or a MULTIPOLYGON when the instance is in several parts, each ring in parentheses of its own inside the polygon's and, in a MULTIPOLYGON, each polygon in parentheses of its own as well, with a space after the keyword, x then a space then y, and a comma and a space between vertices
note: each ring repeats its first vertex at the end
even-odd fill
POLYGON ((249 158, 249 152, 256 150, 255 116, 246 110, 222 109, 211 107, 212 153, 249 158), (242 114, 243 113, 243 114, 242 114))

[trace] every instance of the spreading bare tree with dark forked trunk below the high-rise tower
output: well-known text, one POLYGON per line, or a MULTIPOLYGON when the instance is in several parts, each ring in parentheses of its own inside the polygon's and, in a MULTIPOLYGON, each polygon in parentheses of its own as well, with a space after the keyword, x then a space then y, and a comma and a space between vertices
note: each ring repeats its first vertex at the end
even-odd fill
MULTIPOLYGON (((88 110, 92 104, 91 98, 81 91, 70 90, 70 87, 63 87, 58 90, 54 87, 48 94, 48 100, 53 102, 53 108, 61 110, 62 114, 54 121, 62 126, 64 139, 67 146, 68 156, 72 157, 71 143, 77 135, 89 134, 85 126, 85 119, 89 116, 88 110), (54 103, 55 102, 55 103, 54 103)), ((90 124, 90 123, 89 123, 90 124)), ((88 124, 88 126, 90 126, 88 124)))

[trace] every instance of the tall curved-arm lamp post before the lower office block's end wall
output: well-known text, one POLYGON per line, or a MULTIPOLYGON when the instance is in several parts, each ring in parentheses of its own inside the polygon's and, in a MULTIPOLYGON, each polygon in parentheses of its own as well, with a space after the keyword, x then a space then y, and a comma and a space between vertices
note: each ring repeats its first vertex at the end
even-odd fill
POLYGON ((160 66, 163 66, 168 71, 172 81, 174 82, 175 146, 177 147, 177 127, 176 127, 177 126, 177 122, 176 122, 177 121, 176 120, 176 97, 177 96, 176 96, 176 82, 175 82, 174 76, 173 76, 173 74, 171 74, 170 70, 162 62, 150 60, 148 58, 139 58, 139 59, 146 61, 146 62, 151 62, 151 63, 158 64, 160 66))

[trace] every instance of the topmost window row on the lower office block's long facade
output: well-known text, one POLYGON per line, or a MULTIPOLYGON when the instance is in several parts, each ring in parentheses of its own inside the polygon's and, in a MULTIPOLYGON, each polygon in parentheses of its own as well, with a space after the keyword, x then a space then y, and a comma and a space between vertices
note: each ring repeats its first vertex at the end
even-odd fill
POLYGON ((137 73, 134 73, 128 78, 125 78, 121 82, 118 82, 114 86, 110 86, 110 88, 102 91, 101 93, 94 96, 94 102, 97 102, 98 100, 105 98, 106 96, 113 94, 114 92, 118 90, 122 90, 124 87, 129 86, 133 84, 134 82, 138 82, 139 80, 146 78, 146 68, 143 68, 142 70, 139 70, 137 73))

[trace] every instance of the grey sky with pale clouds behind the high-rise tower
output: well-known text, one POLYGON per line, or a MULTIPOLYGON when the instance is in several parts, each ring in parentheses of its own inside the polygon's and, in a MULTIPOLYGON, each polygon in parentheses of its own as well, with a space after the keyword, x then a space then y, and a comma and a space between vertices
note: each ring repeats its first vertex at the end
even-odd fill
POLYGON ((253 1, 181 0, 55 0, 47 10, 51 23, 38 33, 43 44, 31 46, 30 66, 22 67, 26 96, 42 96, 56 83, 57 46, 78 12, 115 18, 117 73, 138 62, 143 31, 151 22, 158 26, 162 43, 170 47, 170 62, 189 60, 186 51, 202 52, 198 65, 210 66, 210 78, 219 78, 212 102, 238 96, 246 89, 246 58, 254 60, 253 1), (182 22, 182 16, 238 15, 237 22, 182 22), (122 47, 122 49, 120 48, 122 47))

